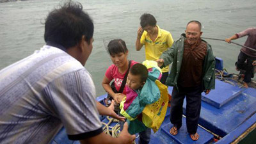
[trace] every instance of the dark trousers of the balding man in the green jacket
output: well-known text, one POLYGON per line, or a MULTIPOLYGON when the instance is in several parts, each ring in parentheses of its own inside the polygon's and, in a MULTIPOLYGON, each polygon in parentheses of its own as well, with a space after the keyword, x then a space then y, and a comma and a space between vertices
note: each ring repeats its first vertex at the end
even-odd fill
POLYGON ((180 129, 182 125, 182 105, 186 96, 186 124, 189 134, 195 134, 197 131, 198 119, 201 110, 201 86, 193 88, 182 88, 179 86, 179 91, 175 86, 172 90, 171 100, 171 122, 180 129))

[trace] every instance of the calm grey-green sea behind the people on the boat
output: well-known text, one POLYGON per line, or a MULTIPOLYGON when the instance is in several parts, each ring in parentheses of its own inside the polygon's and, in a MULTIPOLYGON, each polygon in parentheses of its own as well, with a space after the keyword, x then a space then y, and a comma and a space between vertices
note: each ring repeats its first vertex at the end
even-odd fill
MULTIPOLYGON (((44 42, 44 20, 61 1, 30 0, 0 3, 0 69, 40 49, 44 42)), ((225 39, 234 33, 256 26, 255 0, 97 0, 80 1, 95 24, 93 52, 85 67, 92 74, 97 95, 104 94, 102 78, 111 60, 104 42, 122 38, 129 48, 129 59, 145 60, 145 51, 135 51, 140 15, 154 15, 160 28, 177 40, 189 20, 202 22, 203 36, 225 39)), ((246 37, 235 40, 244 44, 246 37)), ((234 63, 241 47, 207 40, 214 55, 224 60, 230 73, 237 73, 234 63)))

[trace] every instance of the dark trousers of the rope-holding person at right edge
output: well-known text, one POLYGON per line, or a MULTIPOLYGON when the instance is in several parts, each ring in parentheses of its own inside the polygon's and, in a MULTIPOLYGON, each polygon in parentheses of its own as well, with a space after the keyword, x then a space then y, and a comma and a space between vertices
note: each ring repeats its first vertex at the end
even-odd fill
POLYGON ((245 70, 244 74, 244 82, 250 83, 251 78, 253 77, 253 61, 256 60, 256 58, 253 58, 251 56, 247 56, 244 54, 244 52, 240 52, 237 58, 237 68, 245 70), (247 60, 246 67, 243 67, 244 61, 247 60))

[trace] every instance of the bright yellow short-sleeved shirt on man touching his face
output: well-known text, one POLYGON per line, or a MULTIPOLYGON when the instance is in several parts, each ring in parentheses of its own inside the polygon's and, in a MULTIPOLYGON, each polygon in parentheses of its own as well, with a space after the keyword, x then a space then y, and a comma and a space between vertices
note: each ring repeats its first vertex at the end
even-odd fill
MULTIPOLYGON (((158 60, 161 54, 171 47, 173 44, 173 38, 169 31, 158 28, 158 35, 154 42, 150 39, 147 31, 144 31, 140 43, 145 45, 146 60, 158 60)), ((162 72, 168 72, 169 65, 162 68, 162 72)))

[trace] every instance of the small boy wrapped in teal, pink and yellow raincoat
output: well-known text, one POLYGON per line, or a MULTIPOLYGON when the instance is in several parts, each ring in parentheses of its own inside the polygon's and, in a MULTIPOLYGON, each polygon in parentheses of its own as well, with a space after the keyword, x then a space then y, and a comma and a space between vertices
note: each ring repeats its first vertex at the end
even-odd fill
MULTIPOLYGON (((128 131, 131 134, 139 132, 139 143, 149 143, 151 134, 150 128, 152 128, 154 132, 159 128, 152 127, 154 123, 152 117, 150 118, 151 120, 145 121, 145 119, 150 117, 147 115, 145 109, 148 110, 148 107, 153 108, 153 110, 159 108, 157 104, 159 106, 161 93, 164 93, 163 91, 160 93, 158 87, 159 85, 164 86, 164 84, 161 84, 157 79, 161 79, 161 69, 157 67, 156 61, 144 61, 143 65, 136 63, 129 70, 127 76, 127 94, 120 104, 120 113, 127 118, 127 122, 129 123, 128 131), (152 67, 152 63, 154 67, 152 67)), ((167 94, 167 87, 164 86, 164 88, 166 88, 165 93, 167 94)), ((166 95, 166 97, 168 96, 166 95)), ((168 98, 166 101, 168 103, 168 98)), ((166 113, 167 105, 164 105, 164 109, 163 115, 166 113)), ((151 109, 149 111, 151 111, 151 109)), ((154 111, 153 116, 161 113, 161 111, 162 110, 154 111)), ((159 118, 157 120, 159 120, 159 118)), ((161 125, 161 122, 158 124, 161 125)))

